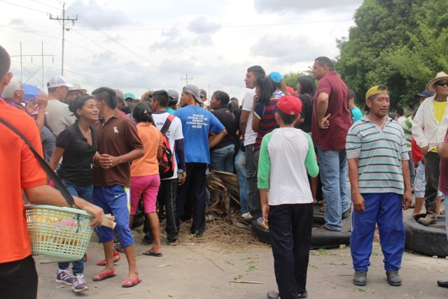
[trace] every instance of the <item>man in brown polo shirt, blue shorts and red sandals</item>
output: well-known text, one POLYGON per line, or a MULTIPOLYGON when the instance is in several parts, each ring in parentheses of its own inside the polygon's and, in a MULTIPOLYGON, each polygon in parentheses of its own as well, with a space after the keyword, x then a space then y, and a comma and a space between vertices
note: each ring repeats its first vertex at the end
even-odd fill
MULTIPOLYGON (((115 216, 116 231, 129 263, 129 275, 123 287, 141 282, 135 262, 134 237, 129 227, 127 192, 130 187, 130 162, 144 155, 143 144, 132 121, 116 111, 116 92, 111 88, 98 88, 92 92, 98 102, 100 121, 97 129, 98 153, 94 157, 92 200, 104 209, 105 214, 115 216)), ((99 242, 103 243, 106 267, 94 275, 94 281, 116 275, 113 264, 113 230, 98 229, 99 242)))

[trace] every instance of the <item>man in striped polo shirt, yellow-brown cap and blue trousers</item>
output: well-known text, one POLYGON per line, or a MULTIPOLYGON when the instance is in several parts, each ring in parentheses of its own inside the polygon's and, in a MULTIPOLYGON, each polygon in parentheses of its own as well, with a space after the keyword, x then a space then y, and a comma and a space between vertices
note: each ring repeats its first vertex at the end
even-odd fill
POLYGON ((398 270, 405 250, 402 208, 408 209, 412 202, 405 134, 401 125, 387 116, 390 102, 385 86, 370 88, 365 98, 370 113, 354 123, 346 137, 354 207, 350 238, 353 284, 367 284, 377 224, 388 284, 401 286, 398 270))

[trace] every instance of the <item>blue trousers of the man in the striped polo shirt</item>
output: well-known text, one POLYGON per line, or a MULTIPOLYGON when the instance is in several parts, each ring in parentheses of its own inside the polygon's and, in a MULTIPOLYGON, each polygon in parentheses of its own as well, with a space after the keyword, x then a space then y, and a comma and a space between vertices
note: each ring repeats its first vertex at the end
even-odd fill
POLYGON ((384 269, 397 271, 405 251, 405 226, 403 225, 402 195, 397 193, 363 193, 365 210, 353 209, 353 228, 350 237, 353 269, 367 271, 370 266, 375 224, 384 255, 384 269))

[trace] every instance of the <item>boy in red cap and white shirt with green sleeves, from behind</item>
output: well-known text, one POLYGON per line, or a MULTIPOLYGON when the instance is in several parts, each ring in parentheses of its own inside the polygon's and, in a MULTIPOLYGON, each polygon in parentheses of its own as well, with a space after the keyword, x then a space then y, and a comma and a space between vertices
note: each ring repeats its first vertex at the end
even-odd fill
POLYGON ((305 298, 313 223, 307 173, 316 177, 318 165, 311 137, 294 128, 302 111, 300 99, 283 96, 276 109, 280 127, 263 137, 258 162, 262 216, 269 221, 279 287, 279 293, 271 291, 267 298, 305 298))

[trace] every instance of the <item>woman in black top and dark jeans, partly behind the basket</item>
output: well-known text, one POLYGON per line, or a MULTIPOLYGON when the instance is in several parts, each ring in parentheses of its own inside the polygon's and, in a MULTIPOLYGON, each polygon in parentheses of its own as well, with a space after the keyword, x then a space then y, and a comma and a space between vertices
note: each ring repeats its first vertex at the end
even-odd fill
MULTIPOLYGON (((71 195, 87 201, 92 200, 92 158, 97 153, 97 131, 92 124, 98 120, 97 101, 92 96, 77 97, 69 109, 76 122, 66 127, 56 139, 56 148, 48 163, 54 170, 61 160, 57 171, 59 178, 71 195)), ((56 281, 69 284, 73 291, 89 289, 84 279, 84 258, 73 261, 73 275, 69 272, 69 263, 58 263, 56 281)))

